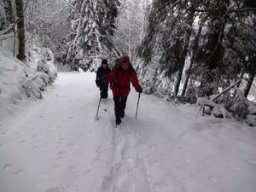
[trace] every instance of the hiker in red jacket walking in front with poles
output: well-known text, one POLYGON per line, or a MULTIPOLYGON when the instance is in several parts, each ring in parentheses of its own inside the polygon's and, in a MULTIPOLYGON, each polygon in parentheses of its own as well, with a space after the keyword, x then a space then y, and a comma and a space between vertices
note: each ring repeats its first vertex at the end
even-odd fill
POLYGON ((119 125, 121 118, 125 116, 127 96, 131 90, 130 83, 137 92, 143 92, 142 86, 138 83, 137 74, 131 66, 129 56, 123 55, 120 58, 117 67, 114 67, 112 72, 108 73, 106 81, 112 82, 115 122, 116 125, 119 125))

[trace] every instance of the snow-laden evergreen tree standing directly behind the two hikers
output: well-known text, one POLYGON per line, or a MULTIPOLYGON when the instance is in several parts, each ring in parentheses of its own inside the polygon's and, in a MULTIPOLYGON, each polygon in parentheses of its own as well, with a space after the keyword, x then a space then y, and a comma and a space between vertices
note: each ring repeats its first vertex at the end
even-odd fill
POLYGON ((68 42, 67 62, 73 70, 79 66, 93 70, 102 57, 115 52, 112 36, 119 1, 84 0, 71 2, 72 32, 68 42))

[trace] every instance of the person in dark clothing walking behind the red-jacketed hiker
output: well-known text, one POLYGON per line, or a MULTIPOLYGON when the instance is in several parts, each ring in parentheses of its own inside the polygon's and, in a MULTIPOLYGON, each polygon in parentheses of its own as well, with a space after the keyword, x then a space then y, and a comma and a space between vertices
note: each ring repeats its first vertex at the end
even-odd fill
POLYGON ((103 77, 106 77, 111 69, 108 67, 108 61, 106 59, 102 60, 102 66, 98 68, 96 73, 96 86, 101 90, 102 99, 108 98, 108 82, 103 81, 103 77))

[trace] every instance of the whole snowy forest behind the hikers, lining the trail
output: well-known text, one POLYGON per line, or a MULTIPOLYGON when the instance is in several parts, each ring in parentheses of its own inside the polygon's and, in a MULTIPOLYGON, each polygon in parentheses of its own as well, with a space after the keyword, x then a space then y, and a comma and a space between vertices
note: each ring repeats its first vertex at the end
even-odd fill
POLYGON ((102 58, 113 67, 126 54, 145 93, 247 119, 256 100, 255 14, 253 0, 2 0, 0 42, 15 39, 25 62, 47 48, 71 71, 96 71, 102 58))

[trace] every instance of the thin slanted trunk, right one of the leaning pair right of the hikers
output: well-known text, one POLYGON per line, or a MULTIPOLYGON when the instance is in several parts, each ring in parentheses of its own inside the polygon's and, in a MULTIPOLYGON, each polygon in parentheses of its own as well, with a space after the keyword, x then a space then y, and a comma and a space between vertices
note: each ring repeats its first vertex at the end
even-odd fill
MULTIPOLYGON (((195 61, 195 55, 196 55, 196 51, 198 49, 199 38, 200 38, 200 35, 201 35, 201 28, 202 28, 202 26, 200 25, 200 27, 198 29, 198 32, 196 34, 196 37, 195 37, 195 45, 193 47, 193 55, 192 55, 191 60, 190 60, 190 65, 189 65, 188 71, 190 71, 192 69, 194 61, 195 61)), ((189 83, 189 76, 190 76, 190 74, 187 73, 186 74, 185 82, 183 84, 182 96, 185 96, 185 93, 186 93, 186 90, 187 90, 187 86, 188 86, 188 83, 189 83)))

